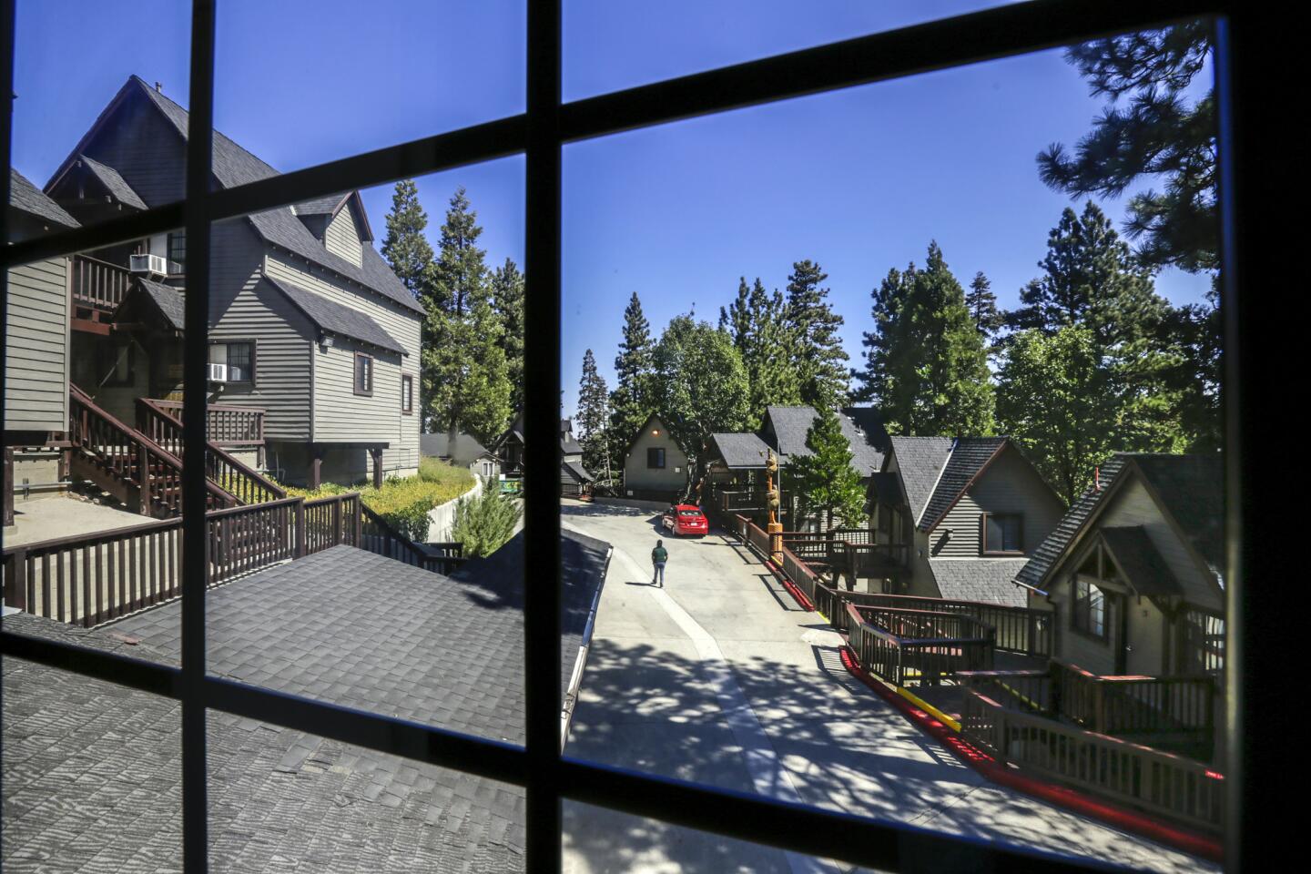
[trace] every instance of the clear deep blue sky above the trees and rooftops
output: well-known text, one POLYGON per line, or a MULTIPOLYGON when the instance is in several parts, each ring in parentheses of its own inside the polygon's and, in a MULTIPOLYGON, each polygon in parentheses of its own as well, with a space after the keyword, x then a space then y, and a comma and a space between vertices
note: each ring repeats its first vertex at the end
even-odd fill
MULTIPOLYGON (((45 183, 131 73, 185 105, 189 5, 20 0, 14 165, 45 183)), ((572 0, 565 98, 987 5, 572 0)), ((522 0, 379 0, 367 10, 222 0, 216 126, 291 170, 515 114, 523 46, 522 0)), ((783 288, 792 262, 810 258, 829 273, 853 362, 871 288, 889 267, 922 262, 931 238, 962 283, 982 270, 1012 304, 1070 203, 1038 182, 1034 156, 1074 143, 1100 109, 1059 52, 1042 52, 566 147, 566 409, 585 349, 612 381, 633 291, 658 333, 694 304, 713 321, 739 275, 783 288)), ((522 157, 420 180, 434 238, 456 185, 479 212, 488 263, 522 265, 522 157)), ((364 202, 380 237, 391 187, 364 202)), ((1122 218, 1124 200, 1103 206, 1122 218)), ((1176 303, 1200 300, 1207 284, 1177 271, 1158 279, 1176 303)))

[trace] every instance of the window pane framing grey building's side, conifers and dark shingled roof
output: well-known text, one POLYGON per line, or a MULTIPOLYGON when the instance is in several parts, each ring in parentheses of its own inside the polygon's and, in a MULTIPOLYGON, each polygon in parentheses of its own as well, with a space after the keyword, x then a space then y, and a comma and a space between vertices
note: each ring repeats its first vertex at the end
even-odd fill
POLYGON ((494 269, 522 259, 523 165, 399 190, 214 228, 210 465, 239 506, 208 522, 208 670, 522 743, 519 510, 480 474, 513 413, 494 269))

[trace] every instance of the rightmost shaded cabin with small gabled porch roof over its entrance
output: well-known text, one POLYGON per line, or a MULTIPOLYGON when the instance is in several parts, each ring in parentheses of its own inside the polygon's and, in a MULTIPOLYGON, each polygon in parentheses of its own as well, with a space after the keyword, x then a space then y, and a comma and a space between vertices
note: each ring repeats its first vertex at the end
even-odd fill
POLYGON ((1117 455, 1016 580, 1055 613, 1054 655, 1096 675, 1224 666, 1221 455, 1117 455))

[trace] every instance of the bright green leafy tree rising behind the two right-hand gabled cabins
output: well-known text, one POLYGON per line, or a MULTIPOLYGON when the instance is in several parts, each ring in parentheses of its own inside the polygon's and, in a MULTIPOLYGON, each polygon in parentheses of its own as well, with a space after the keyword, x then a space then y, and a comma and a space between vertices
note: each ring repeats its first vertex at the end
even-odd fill
POLYGON ((1088 487, 1116 448, 1117 400, 1092 330, 1066 325, 1021 332, 998 372, 996 413, 1066 502, 1088 487))

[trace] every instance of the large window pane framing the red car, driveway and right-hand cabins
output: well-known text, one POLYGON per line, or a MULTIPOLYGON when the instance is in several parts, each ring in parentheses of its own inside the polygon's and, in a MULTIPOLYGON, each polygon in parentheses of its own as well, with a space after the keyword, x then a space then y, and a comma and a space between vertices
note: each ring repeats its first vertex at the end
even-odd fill
MULTIPOLYGON (((562 415, 591 478, 561 518, 614 550, 569 755, 1148 869, 1219 854, 1223 692, 1169 599, 1222 612, 1223 586, 1168 558, 1222 561, 1214 228, 1152 168, 1070 190, 1100 166, 1082 138, 1118 131, 1099 63, 1189 56, 1172 100, 1213 123, 1207 33, 565 148, 562 415), (1141 594, 1084 601, 1099 637, 1071 629, 1087 519, 1141 594), (1186 801, 1116 784, 1152 768, 1186 801)), ((1185 127, 1152 136, 1207 155, 1185 127)))

